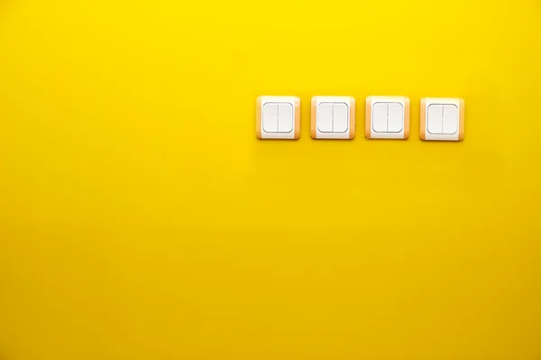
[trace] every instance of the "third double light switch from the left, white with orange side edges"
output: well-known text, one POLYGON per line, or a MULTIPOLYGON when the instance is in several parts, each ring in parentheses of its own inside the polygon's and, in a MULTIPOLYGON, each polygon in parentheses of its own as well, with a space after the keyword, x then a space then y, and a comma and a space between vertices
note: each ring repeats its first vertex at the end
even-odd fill
POLYGON ((367 139, 408 139, 409 98, 367 97, 364 135, 367 139))

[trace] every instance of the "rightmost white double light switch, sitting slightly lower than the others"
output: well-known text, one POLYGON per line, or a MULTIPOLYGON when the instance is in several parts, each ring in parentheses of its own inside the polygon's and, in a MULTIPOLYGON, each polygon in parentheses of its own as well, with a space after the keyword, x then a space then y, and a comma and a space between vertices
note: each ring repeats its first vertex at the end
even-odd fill
POLYGON ((455 141, 464 138, 464 100, 453 97, 421 99, 421 140, 455 141))

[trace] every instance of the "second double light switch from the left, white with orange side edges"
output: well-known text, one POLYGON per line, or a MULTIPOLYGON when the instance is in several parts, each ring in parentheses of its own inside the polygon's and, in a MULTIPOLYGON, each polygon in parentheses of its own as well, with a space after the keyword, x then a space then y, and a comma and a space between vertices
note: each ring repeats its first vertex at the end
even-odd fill
POLYGON ((314 139, 353 139, 355 99, 312 97, 311 134, 314 139))

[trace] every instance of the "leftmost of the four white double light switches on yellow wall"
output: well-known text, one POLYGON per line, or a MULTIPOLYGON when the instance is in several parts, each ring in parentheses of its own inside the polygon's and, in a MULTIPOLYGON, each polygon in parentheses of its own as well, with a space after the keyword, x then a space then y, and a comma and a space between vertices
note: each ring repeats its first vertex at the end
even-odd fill
POLYGON ((291 139, 300 136, 298 97, 258 97, 255 117, 258 139, 291 139))

